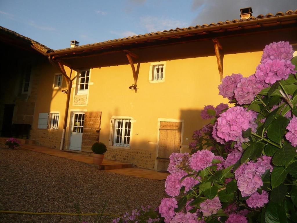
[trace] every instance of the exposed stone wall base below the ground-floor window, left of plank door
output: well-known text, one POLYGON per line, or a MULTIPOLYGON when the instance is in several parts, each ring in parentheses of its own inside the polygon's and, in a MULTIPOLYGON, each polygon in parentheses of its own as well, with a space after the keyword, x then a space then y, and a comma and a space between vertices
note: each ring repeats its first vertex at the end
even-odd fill
POLYGON ((132 163, 137 167, 154 169, 156 153, 147 150, 107 148, 105 158, 115 161, 132 163))

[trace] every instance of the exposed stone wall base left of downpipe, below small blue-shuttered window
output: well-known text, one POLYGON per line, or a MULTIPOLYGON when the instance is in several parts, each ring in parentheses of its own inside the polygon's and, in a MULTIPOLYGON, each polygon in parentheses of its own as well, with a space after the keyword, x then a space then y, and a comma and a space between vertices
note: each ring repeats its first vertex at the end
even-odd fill
POLYGON ((53 129, 31 129, 31 138, 36 140, 37 145, 60 148, 62 133, 53 129))

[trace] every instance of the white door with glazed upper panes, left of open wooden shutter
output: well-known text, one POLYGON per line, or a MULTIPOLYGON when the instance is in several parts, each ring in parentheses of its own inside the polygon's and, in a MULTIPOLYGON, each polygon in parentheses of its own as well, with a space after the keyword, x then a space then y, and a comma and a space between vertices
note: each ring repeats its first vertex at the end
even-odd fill
POLYGON ((81 150, 81 141, 83 139, 83 120, 85 113, 73 112, 72 130, 70 138, 70 150, 81 150))

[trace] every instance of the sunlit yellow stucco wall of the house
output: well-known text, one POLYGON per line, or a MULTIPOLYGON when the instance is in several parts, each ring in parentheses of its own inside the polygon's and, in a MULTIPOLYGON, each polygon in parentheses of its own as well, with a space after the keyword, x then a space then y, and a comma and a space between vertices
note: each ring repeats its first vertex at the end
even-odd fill
MULTIPOLYGON (((241 73, 243 76, 253 74, 261 54, 259 51, 225 55, 224 76, 232 73, 241 73)), ((91 69, 87 105, 74 105, 73 94, 76 86, 74 83, 69 111, 102 112, 99 141, 106 145, 110 139, 111 117, 132 117, 135 123, 133 123, 130 148, 108 148, 106 157, 154 169, 158 118, 184 120, 181 151, 185 152, 188 151, 187 145, 191 142, 193 131, 208 123, 200 118, 203 107, 208 104, 216 106, 228 101, 218 95, 217 87, 220 81, 215 56, 166 61, 165 81, 162 83, 149 82, 150 65, 151 62, 140 64, 137 93, 128 88, 134 83, 129 64, 91 69)), ((69 74, 69 68, 65 69, 69 74)), ((61 93, 61 89, 67 88, 66 81, 63 80, 61 89, 53 89, 54 73, 57 71, 50 65, 40 67, 40 70, 42 75, 31 135, 41 145, 59 148, 67 97, 61 93), (59 129, 37 129, 38 114, 51 111, 60 112, 59 129)), ((68 124, 71 119, 70 112, 68 124)), ((69 147, 69 136, 67 129, 66 149, 69 147)))

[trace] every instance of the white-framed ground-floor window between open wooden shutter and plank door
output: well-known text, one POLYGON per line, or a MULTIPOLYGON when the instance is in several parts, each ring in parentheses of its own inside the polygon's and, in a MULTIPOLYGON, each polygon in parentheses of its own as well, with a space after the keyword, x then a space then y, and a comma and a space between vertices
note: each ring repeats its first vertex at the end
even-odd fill
POLYGON ((131 119, 113 119, 112 145, 130 146, 131 119))

